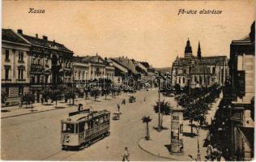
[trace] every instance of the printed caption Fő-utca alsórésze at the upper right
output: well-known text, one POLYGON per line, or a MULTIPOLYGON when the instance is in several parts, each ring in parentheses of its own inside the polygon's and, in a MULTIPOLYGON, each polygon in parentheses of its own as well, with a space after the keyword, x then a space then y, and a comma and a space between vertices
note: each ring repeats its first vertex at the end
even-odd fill
POLYGON ((199 14, 199 15, 220 15, 222 14, 222 11, 220 10, 200 10, 200 11, 197 11, 197 10, 185 10, 185 9, 179 9, 177 15, 196 15, 196 14, 199 14))

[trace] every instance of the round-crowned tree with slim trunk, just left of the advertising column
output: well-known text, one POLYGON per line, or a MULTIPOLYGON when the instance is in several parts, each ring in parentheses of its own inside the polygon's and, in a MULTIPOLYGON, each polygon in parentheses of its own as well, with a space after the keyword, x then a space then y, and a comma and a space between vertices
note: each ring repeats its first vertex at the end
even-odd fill
POLYGON ((169 115, 171 113, 171 105, 169 104, 169 102, 165 102, 163 101, 156 101, 156 105, 154 105, 154 110, 155 113, 160 113, 160 120, 159 120, 159 126, 160 126, 160 130, 162 130, 163 127, 163 116, 164 115, 169 115), (159 104, 160 104, 160 108, 159 108, 159 104), (160 109, 160 112, 159 112, 160 109))

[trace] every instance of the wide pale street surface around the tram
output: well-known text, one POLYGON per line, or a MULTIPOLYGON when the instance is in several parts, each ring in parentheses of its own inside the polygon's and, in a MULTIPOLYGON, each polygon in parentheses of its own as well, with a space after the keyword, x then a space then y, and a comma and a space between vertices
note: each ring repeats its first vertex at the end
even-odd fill
POLYGON ((122 160, 125 147, 130 151, 130 160, 168 160, 152 156, 138 146, 139 139, 145 136, 146 131, 141 118, 144 115, 151 116, 150 131, 153 126, 157 126, 158 116, 153 110, 157 96, 157 90, 151 90, 122 93, 115 98, 108 96, 107 100, 102 96, 97 101, 76 101, 75 104, 81 103, 86 105, 85 108, 92 106, 93 110, 107 109, 112 113, 117 111, 118 103, 122 112, 120 120, 111 120, 109 137, 80 151, 62 151, 60 143, 61 119, 75 111, 75 106, 3 118, 2 160, 122 160), (130 95, 136 96, 135 103, 128 103, 130 95), (124 98, 126 105, 121 104, 124 98))

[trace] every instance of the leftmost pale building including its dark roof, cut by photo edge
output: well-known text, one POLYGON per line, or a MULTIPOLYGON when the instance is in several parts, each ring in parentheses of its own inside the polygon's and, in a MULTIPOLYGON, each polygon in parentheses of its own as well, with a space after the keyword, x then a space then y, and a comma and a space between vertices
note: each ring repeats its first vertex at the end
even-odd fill
POLYGON ((28 56, 30 43, 11 29, 2 29, 1 87, 6 94, 2 106, 19 104, 29 92, 28 56))

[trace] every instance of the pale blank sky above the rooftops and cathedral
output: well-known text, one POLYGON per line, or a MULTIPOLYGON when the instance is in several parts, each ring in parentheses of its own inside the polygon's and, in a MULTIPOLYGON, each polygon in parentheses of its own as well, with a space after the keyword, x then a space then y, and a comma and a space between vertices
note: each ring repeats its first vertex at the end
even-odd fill
POLYGON ((249 34, 254 1, 3 1, 2 28, 48 36, 75 56, 128 57, 154 67, 184 57, 190 38, 196 55, 227 55, 230 43, 249 34), (28 13, 29 8, 45 13, 28 13), (221 15, 177 15, 179 9, 219 10, 221 15))

